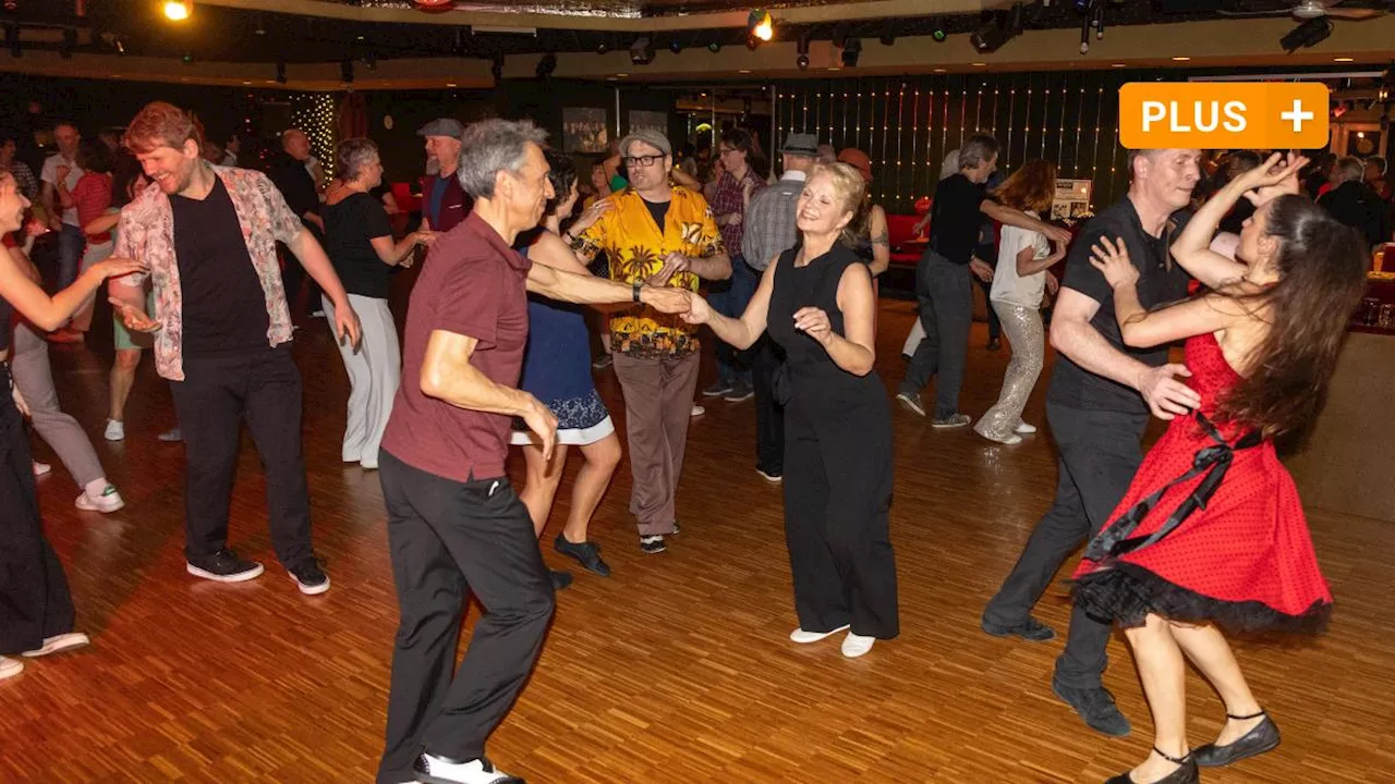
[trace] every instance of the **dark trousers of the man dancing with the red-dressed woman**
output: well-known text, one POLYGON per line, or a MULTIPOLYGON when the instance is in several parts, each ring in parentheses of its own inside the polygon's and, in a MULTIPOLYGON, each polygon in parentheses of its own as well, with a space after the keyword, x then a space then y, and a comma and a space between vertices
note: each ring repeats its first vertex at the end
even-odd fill
MULTIPOLYGON (((983 610, 990 624, 1016 626, 1027 621, 1062 562, 1109 522, 1143 463, 1140 442, 1148 414, 1048 403, 1046 423, 1060 451, 1056 499, 983 610)), ((1056 660, 1056 681, 1071 688, 1099 688, 1108 646, 1109 626, 1092 621, 1077 605, 1066 650, 1056 660)))

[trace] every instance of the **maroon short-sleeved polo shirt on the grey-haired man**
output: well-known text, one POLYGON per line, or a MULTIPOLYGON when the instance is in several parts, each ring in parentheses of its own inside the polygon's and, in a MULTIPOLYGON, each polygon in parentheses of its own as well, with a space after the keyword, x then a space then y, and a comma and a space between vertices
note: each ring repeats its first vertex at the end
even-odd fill
POLYGON ((527 343, 529 261, 474 212, 438 234, 412 289, 402 386, 382 448, 403 463, 455 481, 498 478, 511 417, 460 409, 421 392, 421 364, 437 329, 474 338, 470 365, 518 386, 527 343))

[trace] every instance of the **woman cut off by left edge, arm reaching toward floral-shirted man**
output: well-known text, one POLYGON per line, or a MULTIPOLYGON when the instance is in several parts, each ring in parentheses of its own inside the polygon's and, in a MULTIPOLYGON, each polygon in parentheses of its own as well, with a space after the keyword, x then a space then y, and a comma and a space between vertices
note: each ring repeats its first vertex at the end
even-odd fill
MULTIPOLYGON (((17 232, 28 206, 14 177, 0 173, 0 234, 17 232)), ((18 311, 42 329, 57 329, 92 300, 103 280, 137 269, 138 262, 109 258, 50 299, 8 258, 0 259, 0 679, 24 670, 8 654, 35 657, 88 643, 86 635, 73 631, 68 579, 43 537, 24 398, 10 378, 10 317, 18 311)))

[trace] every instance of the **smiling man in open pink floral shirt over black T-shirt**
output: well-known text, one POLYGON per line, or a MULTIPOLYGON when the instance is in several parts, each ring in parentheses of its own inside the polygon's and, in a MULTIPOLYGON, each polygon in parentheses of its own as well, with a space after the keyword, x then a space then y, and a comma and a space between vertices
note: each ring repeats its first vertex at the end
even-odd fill
POLYGON ((310 541, 301 456, 300 371, 290 357, 290 311, 276 258, 285 243, 335 303, 335 332, 359 345, 359 317, 339 276, 271 180, 199 156, 188 113, 151 103, 126 145, 153 184, 121 211, 117 248, 151 268, 153 318, 142 275, 112 286, 131 329, 156 332, 155 367, 170 379, 184 432, 184 554, 188 572, 216 582, 262 573, 227 547, 227 513, 246 419, 266 470, 276 557, 303 593, 329 590, 310 541))

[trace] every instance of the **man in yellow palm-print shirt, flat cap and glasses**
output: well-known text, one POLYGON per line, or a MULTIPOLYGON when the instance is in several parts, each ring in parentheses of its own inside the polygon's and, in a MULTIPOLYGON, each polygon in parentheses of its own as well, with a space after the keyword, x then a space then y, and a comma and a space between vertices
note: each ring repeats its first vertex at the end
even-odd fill
MULTIPOLYGON (((674 186, 672 145, 640 130, 619 144, 629 187, 611 194, 610 209, 579 237, 569 237, 585 262, 604 251, 611 279, 633 286, 698 290, 698 280, 725 280, 731 259, 702 194, 674 186)), ((625 391, 625 430, 635 490, 629 511, 639 520, 639 545, 663 552, 678 533, 674 495, 684 467, 688 420, 698 388, 696 328, 647 306, 611 317, 615 375, 625 391)))

